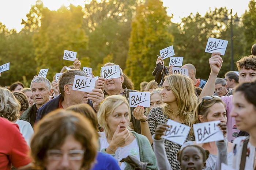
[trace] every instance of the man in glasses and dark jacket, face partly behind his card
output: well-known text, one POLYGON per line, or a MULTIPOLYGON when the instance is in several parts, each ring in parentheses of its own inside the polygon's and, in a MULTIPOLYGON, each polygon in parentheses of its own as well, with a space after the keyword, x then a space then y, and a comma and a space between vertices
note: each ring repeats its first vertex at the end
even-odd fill
POLYGON ((98 111, 99 104, 104 99, 102 90, 93 89, 93 91, 90 93, 73 90, 72 87, 75 75, 87 77, 85 73, 78 69, 68 70, 67 72, 63 73, 59 79, 60 95, 38 109, 36 122, 55 109, 65 109, 71 105, 81 103, 87 103, 94 109, 95 112, 98 111))

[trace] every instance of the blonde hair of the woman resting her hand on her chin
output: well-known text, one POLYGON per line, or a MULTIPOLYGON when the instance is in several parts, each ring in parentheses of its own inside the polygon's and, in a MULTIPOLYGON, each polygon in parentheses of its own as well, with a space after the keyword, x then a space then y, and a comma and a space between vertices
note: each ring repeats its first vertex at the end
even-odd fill
POLYGON ((128 113, 129 113, 129 120, 131 119, 131 110, 129 107, 129 104, 125 97, 121 95, 112 95, 106 97, 100 107, 99 111, 97 113, 98 116, 98 123, 99 125, 104 129, 106 136, 110 134, 110 130, 108 127, 108 123, 106 122, 106 118, 114 112, 114 109, 116 109, 118 106, 125 104, 128 107, 128 113))

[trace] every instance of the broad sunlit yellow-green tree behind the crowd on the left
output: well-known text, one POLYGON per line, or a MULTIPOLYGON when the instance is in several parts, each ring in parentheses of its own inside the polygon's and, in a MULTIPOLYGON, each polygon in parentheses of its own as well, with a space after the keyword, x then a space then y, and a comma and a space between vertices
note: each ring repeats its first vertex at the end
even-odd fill
POLYGON ((72 61, 63 60, 64 50, 76 51, 78 59, 89 61, 84 59, 82 53, 88 42, 82 22, 83 12, 80 6, 71 4, 68 8, 63 6, 57 11, 42 9, 41 27, 33 39, 37 72, 49 68, 47 78, 51 80, 64 65, 72 65, 72 61))

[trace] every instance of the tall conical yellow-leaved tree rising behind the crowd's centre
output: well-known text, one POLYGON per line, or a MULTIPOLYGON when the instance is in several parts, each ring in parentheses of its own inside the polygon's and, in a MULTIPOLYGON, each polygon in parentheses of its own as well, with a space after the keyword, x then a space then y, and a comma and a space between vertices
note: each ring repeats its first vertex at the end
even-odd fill
POLYGON ((125 73, 135 89, 142 81, 153 80, 152 72, 159 50, 172 45, 173 36, 168 32, 170 17, 159 0, 148 0, 137 7, 129 39, 129 56, 125 73))

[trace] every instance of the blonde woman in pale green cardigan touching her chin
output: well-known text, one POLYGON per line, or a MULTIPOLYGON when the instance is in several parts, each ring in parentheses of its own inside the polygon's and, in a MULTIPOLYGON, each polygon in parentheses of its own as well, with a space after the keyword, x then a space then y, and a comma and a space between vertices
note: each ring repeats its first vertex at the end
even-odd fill
POLYGON ((100 132, 100 151, 112 154, 122 170, 135 169, 128 162, 120 162, 129 155, 136 157, 142 164, 146 163, 147 169, 158 169, 155 154, 147 138, 129 131, 131 112, 125 97, 106 97, 97 115, 99 125, 105 130, 100 132))

